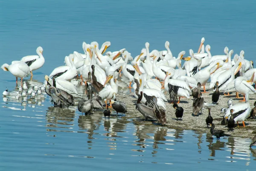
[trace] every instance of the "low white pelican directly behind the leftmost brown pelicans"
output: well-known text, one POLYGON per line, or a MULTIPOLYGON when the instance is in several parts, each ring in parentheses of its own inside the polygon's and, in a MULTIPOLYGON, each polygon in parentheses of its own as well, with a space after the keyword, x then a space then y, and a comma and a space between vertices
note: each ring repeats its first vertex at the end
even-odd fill
POLYGON ((48 75, 44 76, 44 79, 49 82, 52 86, 59 88, 61 90, 66 91, 67 93, 77 93, 76 91, 76 86, 72 83, 70 83, 69 81, 63 80, 63 79, 55 79, 52 80, 51 78, 49 78, 48 75))

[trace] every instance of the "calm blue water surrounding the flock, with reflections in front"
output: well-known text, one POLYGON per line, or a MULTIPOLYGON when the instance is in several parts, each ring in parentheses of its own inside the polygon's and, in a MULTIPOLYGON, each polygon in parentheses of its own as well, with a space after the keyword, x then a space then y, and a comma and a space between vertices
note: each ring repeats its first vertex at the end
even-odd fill
MULTIPOLYGON (((28 82, 41 84, 66 55, 83 52, 83 41, 111 41, 109 51, 126 48, 134 57, 146 41, 151 50, 164 50, 169 41, 177 56, 197 51, 202 37, 212 55, 228 46, 255 61, 255 6, 253 0, 0 0, 0 64, 35 55, 42 46, 45 64, 28 82)), ((14 91, 15 78, 0 72, 0 90, 14 91)), ((47 96, 22 101, 13 95, 1 99, 0 107, 3 171, 256 167, 250 139, 216 142, 208 133, 140 125, 128 115, 108 122, 101 111, 81 117, 76 107, 53 108, 47 96)))

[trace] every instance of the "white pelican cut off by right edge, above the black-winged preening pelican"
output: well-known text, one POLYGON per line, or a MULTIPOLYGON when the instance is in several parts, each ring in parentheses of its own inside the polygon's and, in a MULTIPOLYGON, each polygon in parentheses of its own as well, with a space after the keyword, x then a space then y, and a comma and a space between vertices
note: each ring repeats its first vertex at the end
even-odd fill
POLYGON ((241 95, 244 96, 245 101, 245 94, 254 94, 256 93, 256 90, 254 90, 252 84, 253 84, 253 79, 254 79, 254 72, 250 78, 250 80, 247 80, 246 77, 240 76, 235 79, 235 89, 236 92, 240 93, 241 95))

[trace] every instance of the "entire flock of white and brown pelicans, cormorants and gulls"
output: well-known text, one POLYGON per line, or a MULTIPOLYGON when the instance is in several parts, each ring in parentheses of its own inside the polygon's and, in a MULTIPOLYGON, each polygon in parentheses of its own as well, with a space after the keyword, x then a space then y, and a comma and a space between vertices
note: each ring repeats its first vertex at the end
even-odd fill
MULTIPOLYGON (((126 49, 116 52, 106 52, 111 45, 105 42, 99 47, 97 42, 87 44, 83 42, 84 53, 73 52, 64 58, 65 65, 56 67, 49 75, 45 75, 44 86, 37 90, 23 88, 22 93, 40 94, 45 91, 56 107, 69 107, 75 105, 74 96, 78 94, 76 86, 70 80, 77 77, 81 79, 81 85, 85 85, 87 99, 79 101, 78 110, 83 114, 89 114, 94 109, 103 109, 105 101, 106 110, 104 116, 110 117, 109 107, 118 113, 126 113, 126 104, 117 101, 118 84, 117 81, 126 83, 129 88, 134 89, 134 97, 137 99, 136 109, 147 119, 156 119, 161 125, 166 125, 166 96, 164 91, 169 93, 170 100, 174 103, 177 118, 183 117, 183 108, 178 106, 180 98, 189 99, 192 94, 193 115, 198 116, 202 107, 209 109, 206 119, 207 127, 211 125, 210 132, 217 139, 227 136, 222 130, 215 130, 213 119, 210 115, 210 108, 218 104, 220 92, 229 95, 236 92, 244 96, 244 103, 230 104, 228 108, 221 109, 224 113, 222 123, 227 124, 230 129, 235 127, 237 122, 243 123, 248 116, 256 116, 256 108, 250 109, 249 95, 256 93, 253 84, 256 83, 256 69, 253 68, 253 61, 244 58, 244 51, 240 55, 234 55, 233 50, 225 47, 224 55, 211 55, 209 45, 204 47, 205 39, 201 39, 198 52, 189 50, 189 56, 184 57, 185 51, 178 54, 177 58, 172 55, 169 49, 169 42, 166 41, 166 50, 156 49, 149 51, 149 43, 145 43, 145 48, 140 55, 135 58, 126 49), (181 61, 184 60, 183 66, 181 61), (120 79, 119 79, 120 78, 120 79), (117 80, 118 79, 118 80, 117 80), (214 89, 212 103, 206 103, 201 93, 206 92, 206 84, 210 79, 209 89, 214 89), (110 82, 110 83, 109 83, 110 82), (204 91, 201 92, 201 87, 204 91), (36 91, 36 92, 35 92, 36 91), (109 103, 108 103, 109 101, 109 103)), ((20 61, 12 61, 12 64, 3 64, 4 71, 11 72, 17 78, 31 75, 32 71, 44 65, 43 48, 36 49, 38 55, 29 55, 21 58, 20 61)), ((3 92, 6 96, 8 90, 3 92)), ((32 95, 33 94, 33 95, 32 95)), ((256 106, 256 103, 254 104, 256 106)), ((254 137, 254 140, 256 137, 254 137)), ((255 144, 255 143, 254 143, 255 144)))

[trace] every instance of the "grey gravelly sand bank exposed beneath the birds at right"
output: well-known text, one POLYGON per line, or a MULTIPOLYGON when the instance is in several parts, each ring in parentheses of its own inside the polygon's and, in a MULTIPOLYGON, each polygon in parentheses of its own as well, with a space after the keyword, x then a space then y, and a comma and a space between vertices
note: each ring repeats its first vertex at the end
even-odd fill
MULTIPOLYGON (((209 87, 209 83, 207 84, 207 87, 209 87)), ((204 101, 207 103, 212 102, 212 93, 213 90, 207 90, 208 93, 202 93, 202 97, 204 97, 204 101)), ((169 99, 169 93, 166 91, 164 94, 167 97, 167 100, 170 102, 169 99)), ((241 98, 242 96, 239 95, 241 98)), ((251 109, 254 107, 253 103, 256 101, 256 95, 250 95, 250 107, 251 109)), ((131 118, 134 118, 134 122, 137 124, 156 124, 156 120, 152 121, 144 121, 145 118, 144 116, 138 111, 135 110, 135 104, 137 102, 137 99, 134 97, 134 92, 133 90, 127 90, 126 88, 120 88, 119 87, 119 92, 116 97, 118 101, 123 101, 127 105, 127 110, 128 113, 126 115, 130 115, 131 118), (153 122, 153 123, 152 123, 153 122)), ((256 134, 256 119, 245 119, 245 127, 242 127, 242 122, 239 122, 240 127, 235 127, 233 131, 228 131, 227 125, 221 125, 221 121, 223 119, 224 114, 221 113, 221 108, 227 106, 227 101, 229 99, 233 99, 233 104, 237 103, 244 103, 240 102, 236 98, 236 93, 230 94, 230 96, 224 96, 221 93, 221 96, 218 100, 218 104, 213 106, 211 108, 211 116, 213 118, 213 123, 215 124, 215 129, 220 129, 224 130, 227 134, 230 134, 231 136, 240 136, 243 138, 252 138, 256 134)), ((180 107, 183 107, 185 110, 183 113, 182 120, 176 119, 175 116, 175 109, 172 107, 173 104, 170 104, 166 102, 166 117, 167 117, 167 122, 168 124, 166 127, 168 128, 182 128, 182 129, 187 129, 187 130, 195 130, 195 131, 200 131, 200 132, 209 132, 210 131, 210 126, 207 128, 205 119, 208 116, 208 109, 204 108, 202 111, 203 113, 198 116, 192 116, 192 103, 193 103, 193 97, 190 95, 190 99, 186 98, 181 98, 180 99, 180 104, 178 104, 180 107)), ((215 136, 214 136, 215 137, 215 136)))

